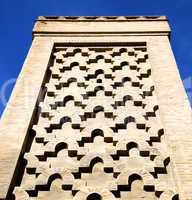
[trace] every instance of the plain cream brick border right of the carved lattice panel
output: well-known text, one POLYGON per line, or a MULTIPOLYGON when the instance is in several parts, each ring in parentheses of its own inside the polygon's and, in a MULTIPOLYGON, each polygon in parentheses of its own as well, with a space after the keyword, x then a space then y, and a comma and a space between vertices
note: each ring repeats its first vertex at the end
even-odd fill
POLYGON ((181 200, 192 199, 192 112, 167 37, 148 45, 160 116, 181 200))

